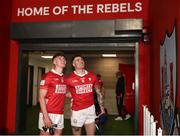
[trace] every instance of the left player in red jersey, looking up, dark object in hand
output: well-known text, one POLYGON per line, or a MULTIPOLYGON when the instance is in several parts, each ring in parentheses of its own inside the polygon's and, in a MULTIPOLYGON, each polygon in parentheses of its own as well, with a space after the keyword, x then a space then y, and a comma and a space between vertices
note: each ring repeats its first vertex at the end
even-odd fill
POLYGON ((66 66, 66 59, 63 54, 55 54, 52 63, 52 70, 43 75, 40 82, 40 135, 61 135, 64 128, 64 100, 67 86, 63 69, 66 66))

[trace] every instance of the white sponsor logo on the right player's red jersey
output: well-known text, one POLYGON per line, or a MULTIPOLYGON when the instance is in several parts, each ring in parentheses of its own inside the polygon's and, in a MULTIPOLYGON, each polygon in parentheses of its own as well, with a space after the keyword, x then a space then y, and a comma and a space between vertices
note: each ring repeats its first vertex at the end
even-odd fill
POLYGON ((93 91, 92 86, 93 86, 92 84, 77 85, 75 86, 76 93, 77 94, 90 93, 93 91))

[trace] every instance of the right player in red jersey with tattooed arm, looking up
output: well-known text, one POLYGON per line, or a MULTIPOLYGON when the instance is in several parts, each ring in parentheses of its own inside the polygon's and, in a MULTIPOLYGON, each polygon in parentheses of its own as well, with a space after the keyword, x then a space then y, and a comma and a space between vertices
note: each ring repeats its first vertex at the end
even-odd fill
POLYGON ((85 126, 87 135, 95 134, 95 107, 93 91, 96 90, 101 112, 104 113, 103 96, 95 74, 85 70, 81 56, 75 56, 72 62, 75 71, 67 78, 68 90, 72 95, 71 125, 74 135, 81 135, 85 126), (95 88, 95 89, 94 89, 95 88))

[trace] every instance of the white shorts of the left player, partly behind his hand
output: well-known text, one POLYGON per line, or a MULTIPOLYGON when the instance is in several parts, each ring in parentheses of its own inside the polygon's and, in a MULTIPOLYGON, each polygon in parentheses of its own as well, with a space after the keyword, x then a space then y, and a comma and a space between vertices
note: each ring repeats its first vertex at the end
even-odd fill
MULTIPOLYGON (((63 129, 64 128, 64 115, 63 114, 48 114, 53 124, 57 124, 56 129, 63 129)), ((42 127, 44 126, 43 121, 43 114, 39 113, 39 129, 43 130, 42 127)))

